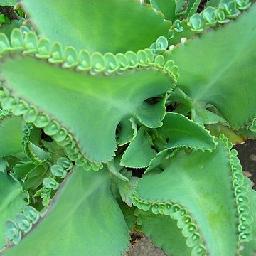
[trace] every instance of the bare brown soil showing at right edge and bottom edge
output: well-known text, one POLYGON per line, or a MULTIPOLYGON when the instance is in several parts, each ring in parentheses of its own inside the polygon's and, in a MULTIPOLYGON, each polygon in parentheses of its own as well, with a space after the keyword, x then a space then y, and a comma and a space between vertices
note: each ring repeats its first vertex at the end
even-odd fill
MULTIPOLYGON (((234 146, 238 150, 238 157, 241 161, 245 175, 256 184, 256 139, 247 140, 245 144, 234 146)), ((253 188, 256 189, 256 186, 253 188)), ((130 256, 164 256, 164 253, 152 245, 149 238, 134 239, 134 249, 129 252, 130 256)))

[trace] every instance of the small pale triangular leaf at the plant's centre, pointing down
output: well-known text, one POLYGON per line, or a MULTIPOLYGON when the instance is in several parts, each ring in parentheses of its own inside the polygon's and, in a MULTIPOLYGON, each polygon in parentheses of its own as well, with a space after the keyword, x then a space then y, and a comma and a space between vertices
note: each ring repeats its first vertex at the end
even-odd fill
POLYGON ((127 147, 121 159, 121 165, 132 168, 143 168, 149 166, 149 162, 156 151, 151 148, 153 142, 144 127, 139 129, 137 136, 127 147))

